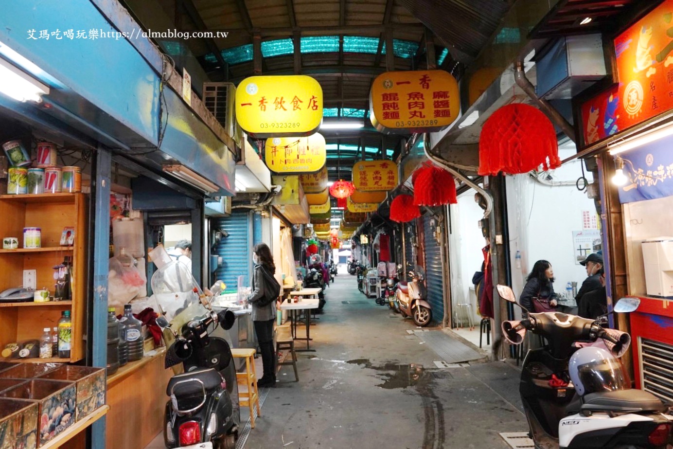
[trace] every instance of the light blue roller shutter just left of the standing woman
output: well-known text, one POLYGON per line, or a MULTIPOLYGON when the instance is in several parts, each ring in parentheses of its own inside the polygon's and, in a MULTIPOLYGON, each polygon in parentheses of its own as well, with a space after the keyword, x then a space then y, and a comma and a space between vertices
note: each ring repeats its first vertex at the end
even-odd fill
POLYGON ((221 279, 227 287, 235 289, 238 277, 243 275, 244 285, 250 285, 248 273, 252 264, 252 236, 250 211, 233 211, 230 217, 217 219, 217 226, 229 233, 223 238, 216 254, 222 256, 223 266, 217 269, 217 279, 221 279))

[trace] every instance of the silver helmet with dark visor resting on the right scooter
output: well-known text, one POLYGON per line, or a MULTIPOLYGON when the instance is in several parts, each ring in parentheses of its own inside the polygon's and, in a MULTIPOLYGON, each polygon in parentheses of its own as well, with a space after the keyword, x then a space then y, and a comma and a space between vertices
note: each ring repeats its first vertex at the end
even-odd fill
POLYGON ((581 396, 629 388, 621 363, 600 347, 583 347, 570 357, 570 379, 581 396))

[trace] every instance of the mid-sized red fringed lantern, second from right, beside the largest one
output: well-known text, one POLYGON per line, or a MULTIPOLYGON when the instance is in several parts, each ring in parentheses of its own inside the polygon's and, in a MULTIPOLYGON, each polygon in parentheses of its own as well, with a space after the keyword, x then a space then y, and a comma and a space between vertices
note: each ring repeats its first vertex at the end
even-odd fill
POLYGON ((439 206, 456 204, 456 182, 444 168, 426 164, 414 172, 414 204, 439 206))

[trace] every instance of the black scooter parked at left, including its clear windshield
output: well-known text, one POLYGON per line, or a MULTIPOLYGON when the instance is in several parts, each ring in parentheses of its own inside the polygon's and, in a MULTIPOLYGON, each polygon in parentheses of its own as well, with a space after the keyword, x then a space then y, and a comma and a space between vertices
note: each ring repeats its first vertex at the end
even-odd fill
MULTIPOLYGON (((215 295, 224 288, 220 281, 211 290, 215 295)), ((164 312, 157 324, 168 347, 166 368, 180 363, 184 368, 166 388, 164 444, 234 449, 240 425, 236 367, 227 341, 210 334, 217 324, 230 329, 236 316, 230 310, 214 312, 214 296, 205 296, 182 263, 155 272, 152 290, 164 312)))

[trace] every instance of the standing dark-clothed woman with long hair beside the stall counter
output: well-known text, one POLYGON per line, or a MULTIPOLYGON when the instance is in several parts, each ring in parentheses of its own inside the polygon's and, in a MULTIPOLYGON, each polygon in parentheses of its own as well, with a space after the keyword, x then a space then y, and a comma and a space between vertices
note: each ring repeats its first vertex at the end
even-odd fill
POLYGON ((267 271, 268 275, 273 276, 276 273, 276 266, 267 244, 258 243, 252 251, 254 271, 252 273, 252 293, 248 296, 248 302, 252 304, 252 322, 262 351, 262 367, 264 368, 264 374, 257 385, 273 387, 276 385, 276 354, 273 348, 273 322, 276 318, 276 302, 271 301, 266 306, 259 306, 258 303, 264 298, 265 292, 271 291, 271 288, 267 285, 268 281, 264 279, 264 270, 267 271))

